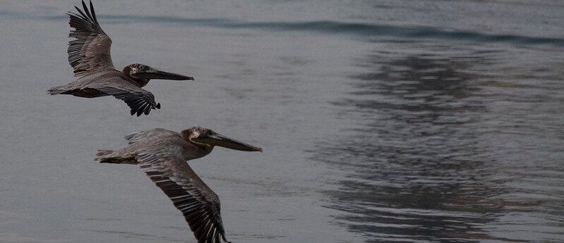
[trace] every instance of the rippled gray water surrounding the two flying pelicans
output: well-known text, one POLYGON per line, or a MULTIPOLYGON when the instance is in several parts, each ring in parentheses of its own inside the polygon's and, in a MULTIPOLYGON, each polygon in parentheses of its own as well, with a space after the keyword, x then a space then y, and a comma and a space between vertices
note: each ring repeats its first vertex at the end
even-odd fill
POLYGON ((564 242, 564 2, 95 1, 162 109, 49 96, 79 1, 0 1, 0 242, 194 242, 123 135, 263 147, 191 166, 232 242, 564 242), (157 3, 158 2, 158 3, 157 3))

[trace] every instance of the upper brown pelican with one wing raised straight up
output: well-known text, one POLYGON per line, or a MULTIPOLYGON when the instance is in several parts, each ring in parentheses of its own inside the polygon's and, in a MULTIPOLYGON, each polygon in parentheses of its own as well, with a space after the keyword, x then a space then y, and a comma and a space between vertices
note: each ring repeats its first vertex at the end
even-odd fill
POLYGON ((80 14, 67 13, 71 17, 68 24, 74 28, 68 37, 76 38, 68 42, 68 63, 71 63, 78 80, 52 87, 47 90, 49 94, 72 94, 85 98, 112 95, 126 102, 131 108, 131 116, 135 113, 140 116, 160 108, 151 92, 141 89, 149 80, 194 80, 193 77, 162 72, 138 63, 126 66, 123 71, 116 70, 109 55, 112 39, 98 24, 92 1, 90 11, 84 1, 82 4, 84 11, 75 6, 80 14))

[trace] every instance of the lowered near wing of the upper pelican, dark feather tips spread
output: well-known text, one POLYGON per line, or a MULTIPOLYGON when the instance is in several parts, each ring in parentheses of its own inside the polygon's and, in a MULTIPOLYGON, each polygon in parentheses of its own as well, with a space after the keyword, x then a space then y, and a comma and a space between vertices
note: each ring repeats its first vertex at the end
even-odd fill
POLYGON ((151 109, 160 109, 160 104, 155 102, 155 96, 151 92, 122 80, 121 77, 114 77, 106 81, 93 83, 88 87, 125 101, 131 108, 131 116, 135 113, 137 113, 137 116, 141 116, 143 113, 148 115, 151 109))

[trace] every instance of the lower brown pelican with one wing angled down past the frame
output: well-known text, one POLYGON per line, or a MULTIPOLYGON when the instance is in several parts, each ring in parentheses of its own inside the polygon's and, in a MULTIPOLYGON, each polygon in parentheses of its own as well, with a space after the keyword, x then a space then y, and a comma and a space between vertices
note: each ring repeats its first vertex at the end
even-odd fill
POLYGON ((219 135, 204 127, 182 132, 156 128, 125 137, 130 144, 119 150, 98 150, 100 163, 136 164, 172 200, 183 214, 198 243, 220 243, 225 231, 220 199, 194 173, 186 161, 210 154, 214 146, 241 151, 263 151, 259 147, 219 135), (221 239, 220 239, 221 237, 221 239))

